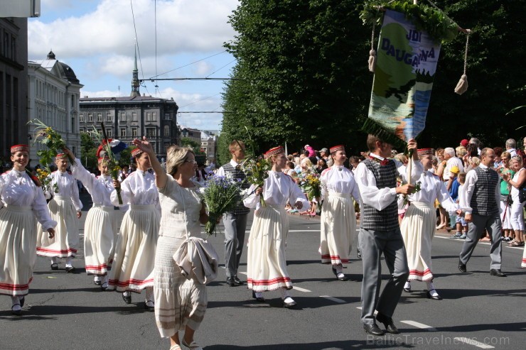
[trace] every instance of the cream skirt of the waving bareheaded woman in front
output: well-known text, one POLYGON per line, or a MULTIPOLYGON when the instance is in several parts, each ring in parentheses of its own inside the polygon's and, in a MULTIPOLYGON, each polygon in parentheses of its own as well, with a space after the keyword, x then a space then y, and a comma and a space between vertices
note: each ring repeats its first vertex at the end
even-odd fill
POLYGON ((187 280, 173 254, 184 239, 160 236, 154 268, 155 320, 161 337, 172 337, 186 326, 197 330, 208 305, 206 285, 187 280))

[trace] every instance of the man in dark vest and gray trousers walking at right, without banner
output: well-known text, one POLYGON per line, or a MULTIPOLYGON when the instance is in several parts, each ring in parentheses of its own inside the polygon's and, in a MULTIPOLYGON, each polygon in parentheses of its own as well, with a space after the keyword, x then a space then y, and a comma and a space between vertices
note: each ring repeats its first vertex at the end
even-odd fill
POLYGON ((503 258, 502 235, 500 229, 500 183, 495 170, 490 168, 495 162, 495 152, 491 148, 483 148, 481 151, 481 164, 477 168, 469 170, 466 174, 466 183, 463 185, 460 197, 460 206, 466 213, 468 222, 468 236, 458 261, 458 270, 462 273, 467 271, 471 254, 478 240, 481 239, 484 229, 491 236, 491 265, 490 275, 505 277, 500 270, 503 258))

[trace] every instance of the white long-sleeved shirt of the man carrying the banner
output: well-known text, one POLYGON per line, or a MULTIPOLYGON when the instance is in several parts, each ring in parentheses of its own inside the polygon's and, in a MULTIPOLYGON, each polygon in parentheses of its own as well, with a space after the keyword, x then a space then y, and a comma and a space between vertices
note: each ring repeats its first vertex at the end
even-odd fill
MULTIPOLYGON (((384 160, 384 158, 380 157, 379 155, 375 155, 374 153, 371 153, 370 156, 372 158, 384 160)), ((393 160, 397 167, 398 174, 402 177, 404 182, 407 182, 407 168, 402 162, 399 162, 396 159, 393 160)), ((422 167, 420 160, 412 161, 413 165, 411 171, 411 183, 414 184, 419 180, 424 168, 422 167)), ((376 186, 375 175, 369 169, 367 169, 367 166, 364 163, 360 163, 358 164, 358 167, 356 167, 355 180, 358 183, 358 188, 360 189, 362 202, 377 210, 387 208, 397 199, 396 188, 378 188, 376 186)))

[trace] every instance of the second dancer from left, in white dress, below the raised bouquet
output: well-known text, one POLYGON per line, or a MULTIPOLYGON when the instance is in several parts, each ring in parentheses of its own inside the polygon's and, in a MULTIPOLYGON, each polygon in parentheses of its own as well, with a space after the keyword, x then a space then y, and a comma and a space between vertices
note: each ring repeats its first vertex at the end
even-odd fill
POLYGON ((55 237, 50 239, 38 225, 36 255, 51 258, 51 270, 58 270, 58 259, 67 258, 65 270, 71 273, 73 258, 77 254, 79 245, 79 219, 82 216, 82 202, 78 195, 77 180, 70 175, 68 155, 60 153, 56 156, 55 164, 58 170, 51 173, 50 188, 45 191, 45 197, 51 199, 48 209, 51 218, 58 222, 55 237))

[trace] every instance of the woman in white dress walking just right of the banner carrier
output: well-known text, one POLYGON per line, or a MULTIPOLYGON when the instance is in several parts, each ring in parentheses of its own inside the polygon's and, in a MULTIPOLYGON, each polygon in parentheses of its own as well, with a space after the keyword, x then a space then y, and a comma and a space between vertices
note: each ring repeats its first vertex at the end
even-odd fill
POLYGON ((411 280, 422 280, 427 284, 426 296, 429 299, 441 300, 433 284, 434 275, 431 265, 431 241, 435 232, 436 209, 435 200, 447 212, 456 212, 460 215, 460 207, 453 202, 444 182, 437 175, 429 172, 433 167, 433 150, 422 148, 418 150, 419 158, 424 167, 420 175, 420 190, 408 199, 411 203, 402 220, 402 238, 407 251, 407 264, 409 265, 409 278, 404 285, 406 292, 411 292, 411 280))

